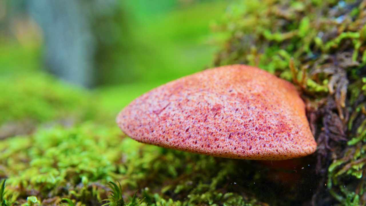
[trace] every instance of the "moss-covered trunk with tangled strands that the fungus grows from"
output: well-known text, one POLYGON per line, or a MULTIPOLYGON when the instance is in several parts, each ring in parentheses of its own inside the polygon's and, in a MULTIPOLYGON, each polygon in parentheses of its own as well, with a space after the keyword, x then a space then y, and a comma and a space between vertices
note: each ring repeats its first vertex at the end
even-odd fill
POLYGON ((318 143, 306 203, 365 205, 366 2, 239 1, 217 26, 214 64, 258 66, 292 81, 318 143))

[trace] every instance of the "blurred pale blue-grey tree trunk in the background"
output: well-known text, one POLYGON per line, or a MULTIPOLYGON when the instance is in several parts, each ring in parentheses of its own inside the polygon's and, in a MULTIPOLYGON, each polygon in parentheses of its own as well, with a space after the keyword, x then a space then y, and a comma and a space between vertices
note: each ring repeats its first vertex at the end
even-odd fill
POLYGON ((29 12, 42 28, 48 69, 73 84, 91 87, 96 46, 87 2, 30 0, 29 12))

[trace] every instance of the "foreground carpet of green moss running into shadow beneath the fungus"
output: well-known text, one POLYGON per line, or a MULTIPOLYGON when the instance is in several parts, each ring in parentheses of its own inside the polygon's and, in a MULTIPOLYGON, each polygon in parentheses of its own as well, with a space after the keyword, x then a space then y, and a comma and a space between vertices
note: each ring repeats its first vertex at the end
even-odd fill
MULTIPOLYGON (((2 140, 0 177, 8 178, 7 199, 26 203, 35 196, 45 204, 68 198, 95 205, 114 180, 125 198, 139 190, 140 205, 259 205, 250 192, 233 187, 234 180, 225 183, 244 171, 242 163, 144 145, 119 134, 116 127, 84 123, 2 140)), ((259 183, 259 177, 251 180, 253 174, 244 181, 259 183)))

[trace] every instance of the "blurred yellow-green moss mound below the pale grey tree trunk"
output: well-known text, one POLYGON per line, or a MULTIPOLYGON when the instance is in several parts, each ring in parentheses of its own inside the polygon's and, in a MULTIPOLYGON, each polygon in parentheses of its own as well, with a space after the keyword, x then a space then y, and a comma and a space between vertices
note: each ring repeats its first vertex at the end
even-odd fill
POLYGON ((37 125, 72 125, 102 117, 95 96, 36 72, 0 78, 0 139, 31 133, 37 125))

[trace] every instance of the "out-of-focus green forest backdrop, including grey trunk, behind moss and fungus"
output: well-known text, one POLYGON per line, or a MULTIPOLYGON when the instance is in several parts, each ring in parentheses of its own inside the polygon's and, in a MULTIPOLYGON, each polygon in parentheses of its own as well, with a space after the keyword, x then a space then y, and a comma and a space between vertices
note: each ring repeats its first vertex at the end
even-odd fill
POLYGON ((221 35, 212 28, 230 2, 0 0, 0 77, 46 72, 118 111, 212 66, 221 35))

